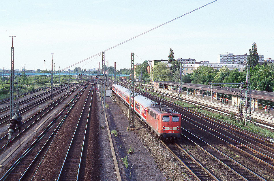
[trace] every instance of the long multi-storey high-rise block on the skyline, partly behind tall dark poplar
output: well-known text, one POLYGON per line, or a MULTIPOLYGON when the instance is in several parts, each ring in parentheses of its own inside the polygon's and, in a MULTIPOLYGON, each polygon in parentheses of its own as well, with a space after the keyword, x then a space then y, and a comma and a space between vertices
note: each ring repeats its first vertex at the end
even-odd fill
MULTIPOLYGON (((220 54, 218 55, 218 63, 243 63, 247 61, 247 53, 244 55, 220 54)), ((259 55, 259 62, 264 62, 264 55, 259 55)))

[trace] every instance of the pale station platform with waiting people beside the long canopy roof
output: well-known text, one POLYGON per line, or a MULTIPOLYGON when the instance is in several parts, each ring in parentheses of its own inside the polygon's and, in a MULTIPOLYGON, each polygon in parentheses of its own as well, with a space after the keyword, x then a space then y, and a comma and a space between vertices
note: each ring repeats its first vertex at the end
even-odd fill
MULTIPOLYGON (((153 88, 153 90, 157 91, 158 93, 163 92, 162 88, 153 88)), ((170 95, 170 96, 179 98, 180 93, 176 90, 164 89, 164 95, 170 95)), ((211 100, 211 96, 204 95, 204 97, 202 97, 201 95, 193 95, 192 92, 187 93, 185 91, 182 92, 182 99, 194 101, 197 104, 200 103, 200 104, 209 105, 212 108, 217 107, 219 109, 223 109, 223 110, 238 114, 239 107, 234 107, 234 103, 232 103, 231 100, 228 100, 228 104, 222 104, 220 102, 220 98, 217 98, 217 100, 216 100, 216 98, 213 97, 213 100, 211 100)), ((274 124, 273 107, 272 107, 272 109, 270 109, 269 113, 265 113, 264 109, 257 109, 257 108, 251 107, 251 117, 258 119, 258 120, 262 120, 264 122, 274 124)))

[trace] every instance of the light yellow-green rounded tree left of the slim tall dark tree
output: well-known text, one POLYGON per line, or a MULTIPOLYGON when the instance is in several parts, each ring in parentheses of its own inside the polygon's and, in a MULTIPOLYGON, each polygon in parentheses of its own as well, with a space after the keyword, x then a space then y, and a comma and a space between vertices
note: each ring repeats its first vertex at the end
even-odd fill
POLYGON ((166 63, 156 63, 153 67, 153 80, 159 80, 159 75, 161 76, 161 80, 170 80, 168 77, 172 75, 172 71, 168 68, 166 63))

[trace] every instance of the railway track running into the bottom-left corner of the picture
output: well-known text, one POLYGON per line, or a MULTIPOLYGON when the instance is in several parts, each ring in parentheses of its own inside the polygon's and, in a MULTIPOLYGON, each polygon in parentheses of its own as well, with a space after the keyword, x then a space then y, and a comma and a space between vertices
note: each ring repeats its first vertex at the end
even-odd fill
MULTIPOLYGON (((0 180, 25 180, 26 176, 32 172, 31 176, 35 175, 34 165, 40 165, 41 160, 37 160, 42 153, 46 153, 52 140, 55 138, 63 121, 67 115, 76 106, 82 93, 87 88, 88 83, 73 97, 73 99, 65 105, 62 111, 48 124, 48 126, 37 136, 29 147, 22 153, 22 155, 10 166, 10 168, 3 174, 0 180)), ((39 166, 37 166, 39 167, 39 166)))

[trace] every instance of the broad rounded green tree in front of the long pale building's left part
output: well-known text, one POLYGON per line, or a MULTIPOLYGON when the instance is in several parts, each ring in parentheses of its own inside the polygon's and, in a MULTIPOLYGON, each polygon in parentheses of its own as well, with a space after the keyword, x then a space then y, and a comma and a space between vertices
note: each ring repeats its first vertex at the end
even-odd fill
POLYGON ((209 66, 200 66, 191 73, 190 77, 194 84, 208 84, 212 82, 218 71, 209 66))

